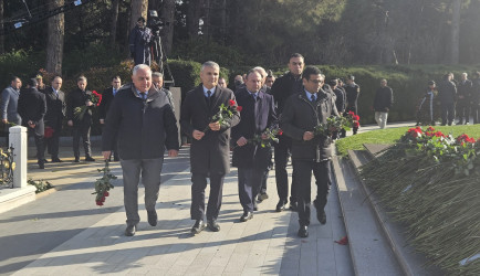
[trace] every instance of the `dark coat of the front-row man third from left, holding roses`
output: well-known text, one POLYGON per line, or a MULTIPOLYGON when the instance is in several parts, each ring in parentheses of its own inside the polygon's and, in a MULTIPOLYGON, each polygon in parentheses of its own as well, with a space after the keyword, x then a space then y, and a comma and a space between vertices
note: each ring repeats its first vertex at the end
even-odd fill
MULTIPOLYGON (((258 92, 257 100, 247 88, 237 93, 237 103, 242 107, 240 123, 231 129, 231 140, 237 145, 240 137, 251 139, 278 124, 273 97, 258 92)), ((233 149, 232 166, 238 168, 267 169, 271 160, 270 148, 247 144, 233 149)))

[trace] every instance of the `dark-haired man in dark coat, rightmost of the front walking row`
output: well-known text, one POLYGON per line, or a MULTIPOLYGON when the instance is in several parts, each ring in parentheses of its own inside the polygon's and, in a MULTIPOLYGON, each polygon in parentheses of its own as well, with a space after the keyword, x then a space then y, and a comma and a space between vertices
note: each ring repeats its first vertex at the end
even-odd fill
POLYGON ((316 217, 326 223, 324 208, 331 185, 332 137, 314 135, 315 126, 326 124, 330 116, 338 116, 335 98, 321 87, 323 76, 317 67, 307 66, 303 71, 303 89, 290 96, 280 118, 283 135, 292 138, 293 171, 298 180, 299 236, 309 236, 311 178, 315 176, 317 194, 314 201, 316 217))

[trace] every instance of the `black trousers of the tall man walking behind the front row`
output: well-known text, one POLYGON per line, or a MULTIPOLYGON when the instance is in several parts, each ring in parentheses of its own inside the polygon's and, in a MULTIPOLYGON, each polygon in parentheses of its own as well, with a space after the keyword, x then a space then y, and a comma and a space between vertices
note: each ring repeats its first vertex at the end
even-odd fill
MULTIPOLYGON (((286 162, 289 160, 289 147, 284 145, 276 145, 274 149, 275 156, 275 180, 276 180, 276 192, 279 193, 280 200, 284 203, 288 202, 289 198, 289 174, 286 173, 286 162)), ((295 170, 295 168, 293 168, 295 170)), ((290 202, 295 202, 295 174, 292 176, 292 187, 290 202)))

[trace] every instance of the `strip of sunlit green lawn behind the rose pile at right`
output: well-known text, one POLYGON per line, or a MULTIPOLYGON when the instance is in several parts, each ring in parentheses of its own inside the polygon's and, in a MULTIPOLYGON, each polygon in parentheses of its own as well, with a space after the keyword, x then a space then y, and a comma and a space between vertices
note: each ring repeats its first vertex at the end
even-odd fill
MULTIPOLYGON (((424 127, 422 129, 426 129, 424 127)), ((335 142, 336 148, 338 149, 338 153, 341 156, 346 156, 348 149, 353 150, 362 150, 364 149, 364 144, 395 144, 407 130, 409 127, 399 127, 399 128, 387 128, 387 129, 378 129, 372 130, 368 132, 363 132, 354 136, 349 136, 343 139, 340 139, 335 142)), ((467 134, 470 137, 476 139, 480 138, 480 125, 467 125, 467 126, 437 126, 436 130, 442 131, 444 134, 452 134, 453 137, 457 137, 462 134, 467 134)))

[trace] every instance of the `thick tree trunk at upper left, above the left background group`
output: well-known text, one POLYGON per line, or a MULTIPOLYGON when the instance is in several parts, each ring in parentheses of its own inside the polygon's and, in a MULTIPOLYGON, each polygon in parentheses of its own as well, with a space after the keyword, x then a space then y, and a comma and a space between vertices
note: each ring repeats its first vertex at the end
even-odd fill
MULTIPOLYGON (((64 0, 51 0, 51 3, 60 7, 64 4, 64 0)), ((58 75, 62 74, 64 28, 65 19, 63 13, 49 19, 45 70, 58 75)))

